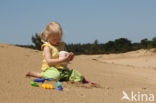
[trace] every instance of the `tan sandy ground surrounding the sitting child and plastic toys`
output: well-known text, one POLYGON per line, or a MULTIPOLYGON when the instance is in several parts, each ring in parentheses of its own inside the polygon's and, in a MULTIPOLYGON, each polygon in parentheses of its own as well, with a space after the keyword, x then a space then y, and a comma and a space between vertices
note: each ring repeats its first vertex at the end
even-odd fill
MULTIPOLYGON (((156 96, 155 50, 138 50, 123 54, 79 55, 69 67, 80 71, 101 87, 63 82, 64 91, 32 87, 25 78, 28 71, 40 72, 41 51, 0 44, 1 103, 133 103, 121 101, 124 90, 156 96)), ((55 82, 52 83, 56 86, 55 82)), ((142 103, 142 102, 137 102, 142 103)), ((151 103, 151 102, 143 102, 151 103)), ((152 103, 156 103, 156 100, 152 103)))

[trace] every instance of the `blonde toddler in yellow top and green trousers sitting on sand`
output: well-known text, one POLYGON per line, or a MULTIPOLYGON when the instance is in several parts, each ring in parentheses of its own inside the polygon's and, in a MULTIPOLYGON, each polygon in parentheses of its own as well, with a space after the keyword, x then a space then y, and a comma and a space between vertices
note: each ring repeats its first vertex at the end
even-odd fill
POLYGON ((73 60, 74 54, 66 52, 62 36, 62 28, 58 22, 51 22, 46 26, 40 35, 43 42, 41 46, 43 50, 42 72, 29 72, 26 76, 53 78, 56 81, 86 81, 81 73, 68 69, 67 63, 73 60))

